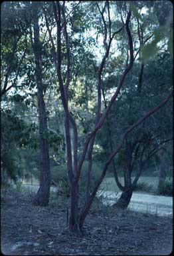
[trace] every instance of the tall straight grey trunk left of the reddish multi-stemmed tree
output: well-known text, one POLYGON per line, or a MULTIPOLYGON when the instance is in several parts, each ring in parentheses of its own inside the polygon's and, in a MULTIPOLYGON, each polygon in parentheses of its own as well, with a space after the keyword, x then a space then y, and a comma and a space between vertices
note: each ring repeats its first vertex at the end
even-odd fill
POLYGON ((33 29, 34 29, 34 43, 33 51, 35 54, 35 76, 37 80, 37 102, 39 111, 39 170, 40 170, 40 188, 36 197, 33 200, 35 205, 47 206, 50 195, 50 161, 49 161, 49 149, 46 109, 44 104, 43 95, 43 74, 42 74, 42 53, 41 53, 41 41, 39 35, 39 15, 38 7, 39 2, 33 2, 33 29))

